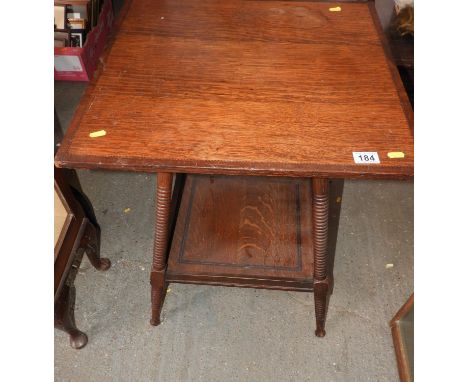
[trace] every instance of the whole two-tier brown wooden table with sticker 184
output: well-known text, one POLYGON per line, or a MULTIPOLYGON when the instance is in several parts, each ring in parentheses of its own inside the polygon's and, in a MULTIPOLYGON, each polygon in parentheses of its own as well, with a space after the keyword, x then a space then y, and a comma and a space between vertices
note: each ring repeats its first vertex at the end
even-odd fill
POLYGON ((157 174, 153 325, 169 282, 313 291, 321 337, 329 180, 412 178, 412 118, 373 2, 132 0, 55 161, 157 174))

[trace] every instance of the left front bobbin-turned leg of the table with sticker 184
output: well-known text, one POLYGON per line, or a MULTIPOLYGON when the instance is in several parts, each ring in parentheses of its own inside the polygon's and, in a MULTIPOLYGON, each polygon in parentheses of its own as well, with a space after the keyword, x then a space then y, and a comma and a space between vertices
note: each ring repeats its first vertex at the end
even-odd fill
POLYGON ((151 269, 151 325, 161 323, 161 309, 166 295, 167 243, 172 193, 172 174, 158 173, 156 191, 156 224, 153 265, 151 269))

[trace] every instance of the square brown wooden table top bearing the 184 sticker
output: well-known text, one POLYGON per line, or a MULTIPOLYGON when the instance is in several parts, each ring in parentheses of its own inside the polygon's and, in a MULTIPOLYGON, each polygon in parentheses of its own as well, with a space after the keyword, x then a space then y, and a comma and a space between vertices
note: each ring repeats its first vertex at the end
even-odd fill
POLYGON ((412 124, 373 2, 130 0, 55 162, 404 179, 412 124))

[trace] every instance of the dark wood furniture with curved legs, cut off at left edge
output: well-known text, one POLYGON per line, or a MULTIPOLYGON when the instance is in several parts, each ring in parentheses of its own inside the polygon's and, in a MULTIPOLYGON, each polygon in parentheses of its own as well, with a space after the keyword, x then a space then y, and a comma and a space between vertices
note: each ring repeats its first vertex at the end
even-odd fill
MULTIPOLYGON (((54 135, 59 141, 56 113, 54 135)), ((81 349, 88 337, 75 324, 75 277, 84 252, 98 270, 109 269, 110 261, 99 256, 100 227, 74 170, 54 167, 54 209, 54 325, 69 334, 73 348, 81 349)))

